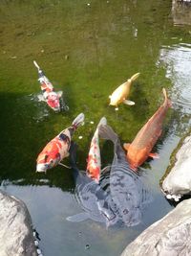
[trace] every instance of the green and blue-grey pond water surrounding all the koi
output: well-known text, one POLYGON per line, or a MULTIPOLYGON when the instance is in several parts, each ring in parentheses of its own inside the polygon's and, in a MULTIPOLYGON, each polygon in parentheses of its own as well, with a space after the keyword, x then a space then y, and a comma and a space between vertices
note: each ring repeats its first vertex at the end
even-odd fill
MULTIPOLYGON (((163 198, 159 180, 189 129, 191 113, 191 28, 176 13, 169 0, 1 1, 1 189, 27 204, 44 255, 120 255, 173 208, 163 198), (64 92, 68 112, 54 113, 37 101, 40 87, 33 59, 55 89, 64 92), (130 95, 136 105, 120 105, 115 111, 108 105, 109 95, 137 72, 130 95), (74 141, 78 166, 85 170, 99 119, 105 116, 121 142, 131 142, 162 103, 162 87, 173 107, 155 147, 159 159, 141 167, 153 194, 142 223, 106 229, 96 221, 66 221, 81 212, 72 172, 56 167, 36 174, 37 154, 84 112, 85 125, 76 130, 74 141)), ((101 154, 103 167, 111 163, 112 147, 101 142, 101 154)))

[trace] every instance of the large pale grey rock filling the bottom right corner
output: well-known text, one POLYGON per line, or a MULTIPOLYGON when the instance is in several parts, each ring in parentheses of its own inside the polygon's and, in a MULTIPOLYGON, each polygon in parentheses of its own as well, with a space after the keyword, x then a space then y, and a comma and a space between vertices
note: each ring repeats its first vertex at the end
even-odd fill
POLYGON ((183 200, 129 244, 121 256, 191 255, 191 199, 183 200))

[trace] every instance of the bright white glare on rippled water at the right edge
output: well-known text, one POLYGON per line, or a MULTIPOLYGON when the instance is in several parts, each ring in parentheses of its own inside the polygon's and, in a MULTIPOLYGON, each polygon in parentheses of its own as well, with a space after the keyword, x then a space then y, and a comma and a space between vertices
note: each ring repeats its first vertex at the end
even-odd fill
MULTIPOLYGON (((183 123, 187 124, 191 114, 190 59, 191 44, 188 43, 162 46, 160 50, 159 61, 165 67, 166 78, 173 84, 170 98, 173 108, 180 116, 178 127, 183 126, 183 123)), ((187 126, 187 128, 189 127, 187 126)))

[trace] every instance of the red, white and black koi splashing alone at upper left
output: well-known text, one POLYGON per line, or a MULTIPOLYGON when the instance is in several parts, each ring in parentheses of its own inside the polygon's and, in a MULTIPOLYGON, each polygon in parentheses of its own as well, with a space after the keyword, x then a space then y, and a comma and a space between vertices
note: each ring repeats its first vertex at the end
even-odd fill
MULTIPOLYGON (((38 97, 39 101, 46 102, 47 105, 49 105, 54 111, 60 111, 60 100, 62 97, 62 91, 55 92, 52 82, 48 80, 48 78, 45 76, 44 72, 40 69, 35 60, 33 60, 33 64, 38 69, 38 81, 40 81, 40 86, 43 93, 38 97)), ((68 106, 63 104, 63 108, 67 110, 68 106)))

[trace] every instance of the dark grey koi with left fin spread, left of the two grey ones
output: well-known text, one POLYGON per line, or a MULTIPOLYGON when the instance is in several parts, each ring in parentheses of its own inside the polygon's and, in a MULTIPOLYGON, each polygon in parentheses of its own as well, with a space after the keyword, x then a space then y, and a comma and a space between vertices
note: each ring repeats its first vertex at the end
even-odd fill
POLYGON ((76 166, 76 144, 72 142, 70 149, 70 162, 73 168, 75 181, 75 198, 83 212, 67 217, 67 221, 79 222, 91 219, 104 222, 106 226, 117 223, 116 205, 112 203, 110 195, 76 166))

